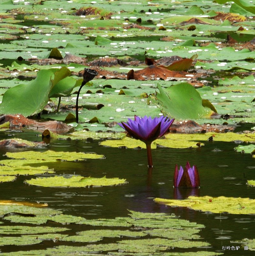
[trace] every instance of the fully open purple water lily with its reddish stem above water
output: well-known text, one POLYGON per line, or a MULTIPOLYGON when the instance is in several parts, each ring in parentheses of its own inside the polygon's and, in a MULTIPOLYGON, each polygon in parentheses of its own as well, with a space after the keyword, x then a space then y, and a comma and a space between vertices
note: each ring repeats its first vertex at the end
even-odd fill
POLYGON ((152 167, 151 143, 162 137, 173 122, 174 118, 170 119, 167 116, 154 118, 151 118, 151 116, 135 116, 134 120, 128 118, 127 123, 121 122, 118 124, 128 132, 129 136, 146 144, 148 166, 152 167))

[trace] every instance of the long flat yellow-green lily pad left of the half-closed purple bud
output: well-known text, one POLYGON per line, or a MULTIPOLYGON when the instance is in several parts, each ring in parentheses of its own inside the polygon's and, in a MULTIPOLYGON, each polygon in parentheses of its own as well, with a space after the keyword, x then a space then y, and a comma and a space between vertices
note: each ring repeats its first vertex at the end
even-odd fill
POLYGON ((54 176, 49 178, 35 178, 32 180, 26 180, 27 184, 40 186, 40 187, 73 187, 82 188, 87 186, 113 186, 125 184, 125 179, 118 178, 92 178, 82 176, 71 176, 70 178, 64 178, 62 176, 54 176))

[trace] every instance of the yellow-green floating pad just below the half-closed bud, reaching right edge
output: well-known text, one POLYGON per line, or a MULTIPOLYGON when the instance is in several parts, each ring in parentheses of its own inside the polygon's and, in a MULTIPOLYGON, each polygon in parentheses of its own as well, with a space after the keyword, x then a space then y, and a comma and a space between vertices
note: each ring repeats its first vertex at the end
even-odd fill
POLYGON ((184 200, 155 198, 154 201, 169 206, 188 207, 193 210, 199 210, 203 212, 229 212, 231 214, 255 213, 255 199, 250 198, 225 196, 189 196, 188 199, 184 200))

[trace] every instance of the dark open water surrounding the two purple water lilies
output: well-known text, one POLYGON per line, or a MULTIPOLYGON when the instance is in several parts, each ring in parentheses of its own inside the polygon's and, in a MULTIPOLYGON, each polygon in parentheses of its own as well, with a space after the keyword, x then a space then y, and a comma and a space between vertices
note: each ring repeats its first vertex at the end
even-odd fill
MULTIPOLYGON (((41 141, 36 132, 0 132, 0 139, 15 137, 41 141), (14 137, 14 136, 13 136, 14 137)), ((1 184, 0 200, 17 200, 48 203, 50 208, 64 214, 81 216, 87 219, 115 218, 127 216, 129 210, 141 212, 166 212, 179 215, 181 219, 204 224, 199 235, 209 242, 209 251, 221 251, 222 246, 238 246, 238 251, 227 250, 224 255, 255 255, 244 251, 241 244, 232 243, 243 238, 254 238, 254 215, 212 214, 186 208, 171 208, 155 203, 153 198, 185 198, 192 193, 190 189, 173 188, 175 164, 185 165, 189 161, 196 164, 200 174, 201 188, 195 191, 199 196, 233 196, 255 198, 255 188, 246 185, 254 179, 255 159, 249 154, 236 153, 235 143, 205 142, 198 149, 154 149, 154 168, 152 175, 147 173, 146 150, 107 148, 94 140, 56 140, 46 149, 72 152, 95 152, 106 158, 80 162, 58 162, 48 165, 59 174, 108 178, 119 177, 128 180, 122 186, 102 188, 43 188, 26 185, 23 181, 30 177, 19 176, 15 182, 1 184)), ((26 151, 26 149, 21 149, 26 151)), ((10 151, 10 150, 8 150, 10 151)), ((1 149, 1 159, 6 150, 1 149)), ((25 152, 24 152, 25 154, 25 152)), ((40 176, 40 175, 39 175, 40 176)), ((8 225, 8 221, 5 221, 8 225)), ((52 225, 56 225, 52 223, 52 225)), ((79 228, 75 225, 71 228, 79 228)), ((68 227, 68 225, 67 225, 68 227)), ((79 231, 79 230, 75 230, 79 231)), ((67 242, 59 242, 68 244, 67 242)), ((69 243, 70 244, 70 243, 69 243)), ((45 249, 56 244, 44 241, 38 245, 22 246, 22 250, 45 249)), ((4 246, 2 252, 21 250, 18 246, 4 246)), ((192 250, 192 249, 191 249, 192 250)), ((197 249, 196 249, 197 250, 197 249)), ((204 249, 206 250, 206 249, 204 249)))

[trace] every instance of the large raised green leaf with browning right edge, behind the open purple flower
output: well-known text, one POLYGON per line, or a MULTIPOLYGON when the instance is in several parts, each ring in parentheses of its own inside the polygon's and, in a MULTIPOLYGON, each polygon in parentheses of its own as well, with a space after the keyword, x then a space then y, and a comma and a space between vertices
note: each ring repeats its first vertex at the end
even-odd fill
POLYGON ((199 119, 214 113, 212 109, 203 106, 201 96, 191 84, 176 84, 165 90, 158 84, 157 88, 159 92, 152 98, 152 102, 166 115, 176 119, 199 119))

